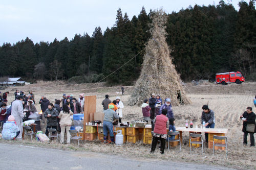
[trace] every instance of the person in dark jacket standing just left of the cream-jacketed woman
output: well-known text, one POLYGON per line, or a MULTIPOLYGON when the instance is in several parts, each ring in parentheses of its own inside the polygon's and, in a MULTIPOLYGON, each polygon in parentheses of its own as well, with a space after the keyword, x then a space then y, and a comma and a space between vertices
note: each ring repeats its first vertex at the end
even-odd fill
MULTIPOLYGON (((57 116, 58 111, 54 108, 53 104, 50 103, 48 105, 48 109, 46 109, 44 116, 47 119, 47 127, 46 127, 46 136, 48 136, 48 129, 58 129, 57 116)), ((54 133, 53 133, 54 134, 54 133)))

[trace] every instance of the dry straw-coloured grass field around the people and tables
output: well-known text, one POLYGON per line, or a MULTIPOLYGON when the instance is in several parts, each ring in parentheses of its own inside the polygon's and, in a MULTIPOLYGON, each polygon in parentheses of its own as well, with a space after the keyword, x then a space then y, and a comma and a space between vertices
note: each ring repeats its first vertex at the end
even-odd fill
MULTIPOLYGON (((28 93, 32 90, 35 94, 36 107, 39 110, 38 101, 41 95, 45 95, 50 102, 54 99, 60 99, 62 93, 67 95, 73 94, 76 98, 80 93, 86 95, 97 95, 97 111, 102 111, 101 101, 106 93, 110 94, 110 99, 114 100, 115 96, 120 95, 120 87, 105 87, 104 83, 96 84, 90 89, 89 84, 70 85, 59 82, 38 82, 37 84, 18 87, 19 90, 28 93)), ((127 101, 130 97, 133 86, 125 87, 125 95, 120 96, 124 102, 123 120, 141 120, 141 108, 137 106, 127 106, 127 101)), ((14 91, 16 88, 9 87, 6 91, 10 91, 8 101, 14 99, 14 91)), ((243 146, 242 121, 239 115, 242 114, 246 107, 250 106, 255 112, 256 108, 253 105, 252 99, 256 94, 256 83, 243 83, 240 85, 231 84, 226 86, 209 84, 204 86, 186 86, 187 96, 193 102, 191 105, 173 107, 176 118, 176 126, 185 126, 186 119, 193 119, 194 126, 201 125, 202 105, 209 102, 209 108, 215 111, 216 128, 228 128, 228 159, 225 157, 225 152, 217 151, 215 156, 212 156, 212 149, 205 148, 205 153, 201 154, 201 150, 195 149, 193 154, 189 154, 188 133, 183 134, 182 151, 178 148, 173 148, 170 152, 166 151, 164 155, 160 151, 155 154, 150 154, 151 145, 138 142, 136 144, 127 143, 121 147, 113 145, 104 145, 99 141, 86 141, 83 147, 77 147, 76 144, 61 145, 56 143, 44 144, 36 141, 16 141, 23 142, 28 145, 40 145, 46 148, 60 148, 66 150, 90 150, 95 152, 105 152, 123 156, 133 156, 134 159, 152 159, 156 160, 172 160, 177 162, 195 162, 204 164, 215 164, 236 169, 255 169, 256 168, 256 148, 243 146)), ((254 135, 255 136, 255 135, 254 135)), ((12 141, 3 141, 12 143, 12 141)), ((249 143, 249 136, 248 136, 249 143)))

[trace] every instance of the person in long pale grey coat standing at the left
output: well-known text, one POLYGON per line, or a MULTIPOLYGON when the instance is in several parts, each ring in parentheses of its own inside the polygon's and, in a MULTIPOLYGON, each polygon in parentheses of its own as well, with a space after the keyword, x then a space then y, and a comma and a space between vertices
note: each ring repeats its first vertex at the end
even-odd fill
POLYGON ((19 135, 17 136, 17 139, 19 140, 22 139, 22 133, 23 133, 22 118, 24 117, 24 114, 23 114, 22 101, 23 101, 23 97, 18 95, 17 99, 12 102, 12 113, 11 113, 11 115, 14 116, 18 129, 20 131, 19 135))

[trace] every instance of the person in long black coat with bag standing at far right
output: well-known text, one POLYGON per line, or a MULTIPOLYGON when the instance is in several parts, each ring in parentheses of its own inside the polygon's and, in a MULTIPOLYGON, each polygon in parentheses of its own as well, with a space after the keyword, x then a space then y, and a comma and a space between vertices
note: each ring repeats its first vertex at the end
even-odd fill
POLYGON ((256 115, 255 113, 252 112, 252 108, 251 107, 247 107, 246 108, 246 112, 244 112, 240 118, 246 118, 245 120, 243 120, 243 129, 242 131, 244 132, 244 145, 247 145, 247 135, 248 133, 250 134, 250 147, 254 147, 255 146, 255 141, 254 141, 254 133, 256 132, 256 127, 254 128, 254 132, 247 132, 246 131, 246 126, 247 124, 254 124, 255 125, 255 118, 256 115))

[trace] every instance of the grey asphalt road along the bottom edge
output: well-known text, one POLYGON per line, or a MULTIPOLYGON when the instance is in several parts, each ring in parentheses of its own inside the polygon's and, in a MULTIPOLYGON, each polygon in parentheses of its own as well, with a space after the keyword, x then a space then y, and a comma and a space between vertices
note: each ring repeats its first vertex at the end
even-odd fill
POLYGON ((0 143, 0 169, 230 169, 204 164, 157 162, 86 151, 61 151, 0 143))

